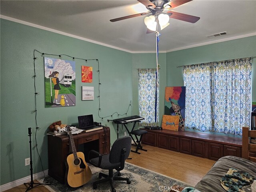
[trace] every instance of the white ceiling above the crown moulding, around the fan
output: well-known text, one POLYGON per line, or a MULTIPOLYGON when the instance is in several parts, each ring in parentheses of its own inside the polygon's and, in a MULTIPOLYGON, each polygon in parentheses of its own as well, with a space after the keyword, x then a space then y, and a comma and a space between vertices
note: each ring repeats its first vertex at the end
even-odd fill
MULTIPOLYGON (((256 35, 256 0, 193 0, 172 10, 200 20, 192 24, 170 18, 170 25, 160 31, 160 52, 256 35), (220 32, 227 34, 206 38, 220 32)), ((0 1, 4 19, 25 21, 128 52, 155 52, 156 37, 154 33, 146 34, 146 16, 110 22, 140 12, 149 11, 137 0, 0 1)))

